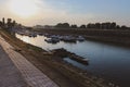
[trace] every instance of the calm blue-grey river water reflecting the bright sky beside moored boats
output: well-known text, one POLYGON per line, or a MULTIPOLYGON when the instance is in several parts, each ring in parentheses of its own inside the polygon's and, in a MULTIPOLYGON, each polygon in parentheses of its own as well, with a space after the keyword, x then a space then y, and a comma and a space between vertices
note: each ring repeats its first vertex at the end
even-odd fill
POLYGON ((56 45, 47 44, 44 36, 35 38, 28 36, 16 37, 25 42, 38 46, 46 50, 65 48, 81 57, 89 59, 89 65, 82 65, 70 59, 67 62, 116 83, 120 87, 130 87, 130 49, 110 46, 107 44, 86 40, 77 44, 58 42, 56 45))

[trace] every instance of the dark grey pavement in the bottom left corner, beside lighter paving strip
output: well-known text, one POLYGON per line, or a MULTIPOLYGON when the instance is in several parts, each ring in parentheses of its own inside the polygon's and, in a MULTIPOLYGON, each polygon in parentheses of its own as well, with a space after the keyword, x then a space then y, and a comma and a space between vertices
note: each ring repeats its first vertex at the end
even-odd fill
POLYGON ((21 72, 0 46, 0 87, 27 87, 21 72))

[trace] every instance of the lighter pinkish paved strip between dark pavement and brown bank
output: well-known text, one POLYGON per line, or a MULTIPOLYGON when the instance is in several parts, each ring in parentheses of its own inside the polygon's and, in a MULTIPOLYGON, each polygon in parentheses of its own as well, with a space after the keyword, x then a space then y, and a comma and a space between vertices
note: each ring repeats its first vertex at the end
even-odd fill
POLYGON ((10 46, 1 36, 0 45, 4 51, 9 54, 13 63, 22 73, 27 84, 31 87, 58 87, 47 75, 40 72, 35 65, 27 61, 21 53, 14 51, 14 48, 10 46))

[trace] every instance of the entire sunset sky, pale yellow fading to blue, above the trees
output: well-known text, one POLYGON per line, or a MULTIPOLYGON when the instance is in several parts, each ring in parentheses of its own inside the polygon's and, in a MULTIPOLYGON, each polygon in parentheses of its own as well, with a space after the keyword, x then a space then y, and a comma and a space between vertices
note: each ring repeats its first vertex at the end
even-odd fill
POLYGON ((24 25, 117 22, 130 26, 130 0, 0 0, 0 18, 24 25))

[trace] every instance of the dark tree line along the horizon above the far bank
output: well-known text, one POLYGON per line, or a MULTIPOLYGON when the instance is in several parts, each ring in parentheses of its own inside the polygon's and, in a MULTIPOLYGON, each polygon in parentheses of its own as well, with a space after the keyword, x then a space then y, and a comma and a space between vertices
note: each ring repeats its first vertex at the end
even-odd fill
POLYGON ((87 25, 70 25, 68 23, 58 23, 55 25, 57 28, 94 28, 94 29, 130 29, 126 25, 117 25, 115 22, 106 22, 106 23, 89 23, 87 25))

